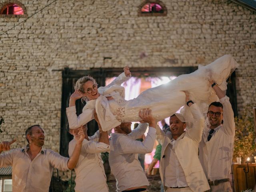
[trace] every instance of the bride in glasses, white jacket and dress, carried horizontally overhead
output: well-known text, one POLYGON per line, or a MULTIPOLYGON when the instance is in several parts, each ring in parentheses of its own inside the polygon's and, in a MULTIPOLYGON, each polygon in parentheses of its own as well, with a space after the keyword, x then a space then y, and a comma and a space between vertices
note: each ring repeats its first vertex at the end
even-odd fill
POLYGON ((209 81, 215 82, 222 90, 226 90, 226 78, 238 66, 234 58, 224 55, 211 64, 198 66, 198 70, 183 74, 170 82, 150 88, 132 100, 124 99, 124 87, 121 84, 131 76, 128 67, 108 86, 99 87, 91 76, 84 76, 75 84, 75 92, 70 96, 69 107, 66 108, 68 123, 71 129, 78 128, 94 119, 96 110, 103 131, 118 126, 121 122, 140 121, 139 111, 150 108, 156 121, 174 114, 185 104, 185 93, 190 100, 203 106, 217 100, 209 81), (76 100, 82 98, 86 105, 82 114, 76 115, 76 100))

